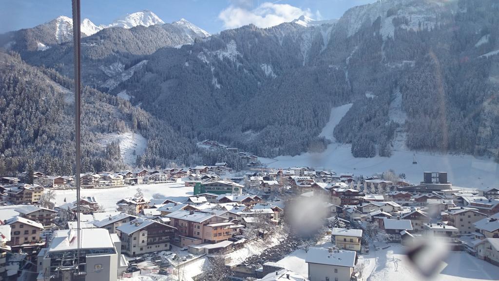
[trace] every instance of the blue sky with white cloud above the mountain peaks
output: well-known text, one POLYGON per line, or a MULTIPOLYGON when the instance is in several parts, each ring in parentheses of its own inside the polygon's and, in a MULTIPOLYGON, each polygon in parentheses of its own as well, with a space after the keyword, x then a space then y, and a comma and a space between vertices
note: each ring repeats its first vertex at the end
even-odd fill
MULTIPOLYGON (((374 0, 81 0, 82 19, 109 24, 144 9, 165 22, 186 18, 211 33, 254 23, 261 27, 297 14, 315 19, 340 17, 348 8, 374 0)), ((0 33, 32 27, 59 15, 71 17, 71 0, 0 0, 0 33)))

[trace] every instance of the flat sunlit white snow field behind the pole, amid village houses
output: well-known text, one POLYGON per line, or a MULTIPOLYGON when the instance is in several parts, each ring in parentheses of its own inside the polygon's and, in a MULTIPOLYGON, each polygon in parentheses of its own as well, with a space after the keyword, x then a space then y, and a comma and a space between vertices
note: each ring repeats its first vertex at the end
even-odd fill
MULTIPOLYGON (((95 196, 99 204, 102 204, 106 210, 115 210, 117 201, 125 197, 133 197, 139 187, 146 199, 151 199, 156 193, 161 194, 164 198, 175 201, 183 201, 186 200, 187 197, 193 195, 193 187, 184 186, 184 182, 172 182, 136 184, 115 188, 81 189, 81 196, 95 196)), ((66 202, 76 200, 75 189, 54 191, 56 206, 64 204, 64 198, 66 198, 66 202)))

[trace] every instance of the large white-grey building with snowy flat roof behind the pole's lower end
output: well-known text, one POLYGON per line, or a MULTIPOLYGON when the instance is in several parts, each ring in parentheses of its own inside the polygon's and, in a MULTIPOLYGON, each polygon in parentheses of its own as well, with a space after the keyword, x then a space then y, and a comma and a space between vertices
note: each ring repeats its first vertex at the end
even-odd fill
POLYGON ((103 228, 57 230, 48 248, 38 255, 37 280, 70 280, 74 272, 80 280, 114 281, 128 266, 121 255, 121 242, 115 233, 103 228), (78 268, 78 270, 75 270, 78 268))

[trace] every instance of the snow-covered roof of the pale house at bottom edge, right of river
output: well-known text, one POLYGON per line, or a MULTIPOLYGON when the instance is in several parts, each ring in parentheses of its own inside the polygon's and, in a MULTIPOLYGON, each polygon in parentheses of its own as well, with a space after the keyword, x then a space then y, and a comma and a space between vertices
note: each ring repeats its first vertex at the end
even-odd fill
POLYGON ((305 262, 336 266, 354 267, 355 251, 309 248, 305 262))

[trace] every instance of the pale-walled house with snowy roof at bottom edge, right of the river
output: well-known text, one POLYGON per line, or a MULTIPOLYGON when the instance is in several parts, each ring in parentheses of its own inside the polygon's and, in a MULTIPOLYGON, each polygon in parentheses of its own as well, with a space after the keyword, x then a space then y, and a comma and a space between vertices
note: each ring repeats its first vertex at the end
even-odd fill
POLYGON ((305 262, 310 281, 345 280, 352 278, 355 266, 355 251, 337 248, 309 248, 305 262))

